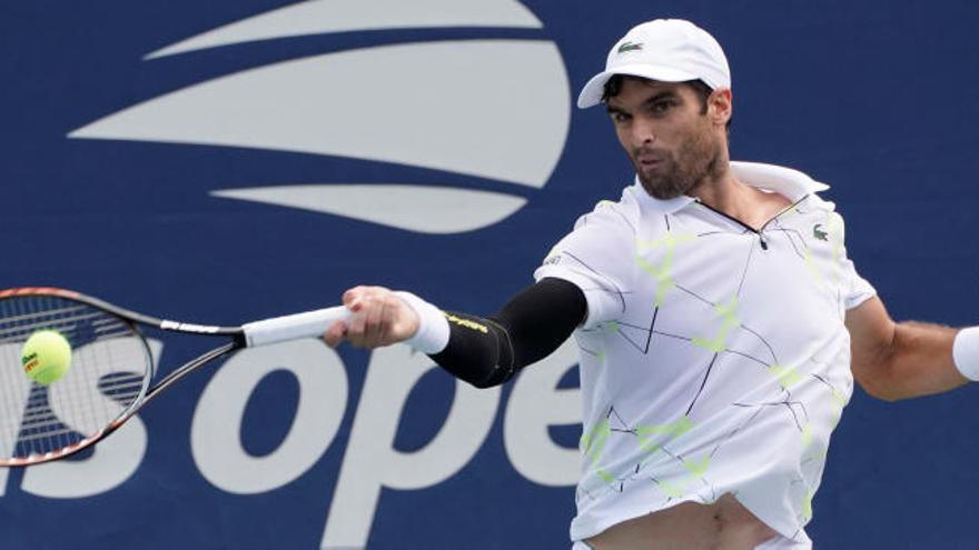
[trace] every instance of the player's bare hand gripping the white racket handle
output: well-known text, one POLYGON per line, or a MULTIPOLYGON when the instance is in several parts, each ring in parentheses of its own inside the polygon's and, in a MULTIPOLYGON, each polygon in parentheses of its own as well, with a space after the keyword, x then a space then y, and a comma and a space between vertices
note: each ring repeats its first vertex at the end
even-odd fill
POLYGON ((345 339, 358 348, 380 348, 403 342, 418 331, 418 314, 384 287, 355 287, 344 292, 344 306, 353 314, 333 323, 323 336, 336 348, 345 339))

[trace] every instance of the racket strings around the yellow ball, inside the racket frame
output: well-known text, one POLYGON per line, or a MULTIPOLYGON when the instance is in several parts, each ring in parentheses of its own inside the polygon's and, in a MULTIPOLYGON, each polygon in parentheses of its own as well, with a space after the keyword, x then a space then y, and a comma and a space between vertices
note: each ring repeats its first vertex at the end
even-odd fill
POLYGON ((145 393, 150 360, 139 333, 93 306, 55 296, 0 299, 0 462, 58 452, 98 433, 145 393), (22 368, 24 341, 57 330, 68 371, 47 386, 22 368))

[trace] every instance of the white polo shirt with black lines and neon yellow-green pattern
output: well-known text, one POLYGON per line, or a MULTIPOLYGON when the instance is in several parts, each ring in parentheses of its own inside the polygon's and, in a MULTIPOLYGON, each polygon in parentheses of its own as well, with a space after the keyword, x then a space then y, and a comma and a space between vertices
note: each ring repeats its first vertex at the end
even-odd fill
POLYGON ((827 186, 731 169, 792 207, 754 231, 636 183, 578 219, 534 273, 587 299, 573 540, 731 492, 785 542, 811 544, 803 528, 853 388, 843 320, 874 290, 847 258, 833 203, 814 194, 827 186))

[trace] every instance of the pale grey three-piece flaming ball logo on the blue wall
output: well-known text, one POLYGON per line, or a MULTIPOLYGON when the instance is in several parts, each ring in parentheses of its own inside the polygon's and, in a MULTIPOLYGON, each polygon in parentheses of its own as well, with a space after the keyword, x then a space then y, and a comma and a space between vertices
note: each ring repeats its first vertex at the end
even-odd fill
MULTIPOLYGON (((313 0, 188 38, 145 57, 309 34, 392 29, 540 29, 513 0, 313 0)), ((225 74, 71 131, 73 139, 289 151, 431 169, 431 184, 332 181, 214 189, 425 233, 497 223, 541 189, 564 149, 567 74, 554 42, 471 39, 358 48, 225 74), (437 173, 500 182, 464 189, 437 173), (518 186, 518 187, 513 187, 518 186), (513 189, 514 192, 508 192, 513 189)), ((219 182, 215 183, 219 186, 219 182)))

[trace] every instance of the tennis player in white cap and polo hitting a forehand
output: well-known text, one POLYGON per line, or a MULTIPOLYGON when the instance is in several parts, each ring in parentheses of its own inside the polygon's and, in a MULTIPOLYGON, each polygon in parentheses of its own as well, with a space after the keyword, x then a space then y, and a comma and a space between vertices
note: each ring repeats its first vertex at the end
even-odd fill
POLYGON ((731 74, 683 20, 631 29, 578 107, 635 168, 488 318, 357 287, 330 346, 407 342, 476 387, 574 333, 583 473, 575 550, 807 549, 830 434, 856 379, 886 400, 979 379, 979 328, 896 323, 799 171, 732 162, 731 74))

